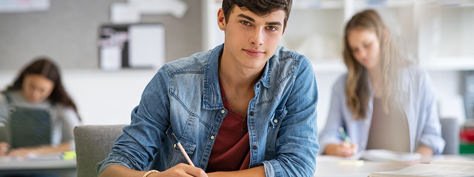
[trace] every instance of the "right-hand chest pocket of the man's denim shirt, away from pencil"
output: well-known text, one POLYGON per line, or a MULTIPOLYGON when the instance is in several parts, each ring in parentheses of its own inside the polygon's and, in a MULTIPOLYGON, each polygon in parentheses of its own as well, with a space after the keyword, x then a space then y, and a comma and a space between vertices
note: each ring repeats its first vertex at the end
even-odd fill
POLYGON ((282 124, 283 119, 288 113, 285 107, 280 110, 275 110, 273 115, 268 120, 268 134, 265 143, 265 156, 264 160, 271 160, 275 158, 276 153, 276 139, 278 137, 278 131, 282 124))

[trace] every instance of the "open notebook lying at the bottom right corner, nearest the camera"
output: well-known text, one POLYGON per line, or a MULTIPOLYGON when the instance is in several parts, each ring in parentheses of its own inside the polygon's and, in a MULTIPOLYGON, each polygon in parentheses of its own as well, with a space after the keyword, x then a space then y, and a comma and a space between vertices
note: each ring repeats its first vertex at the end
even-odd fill
POLYGON ((474 177, 474 161, 433 160, 398 171, 371 173, 369 177, 474 177))

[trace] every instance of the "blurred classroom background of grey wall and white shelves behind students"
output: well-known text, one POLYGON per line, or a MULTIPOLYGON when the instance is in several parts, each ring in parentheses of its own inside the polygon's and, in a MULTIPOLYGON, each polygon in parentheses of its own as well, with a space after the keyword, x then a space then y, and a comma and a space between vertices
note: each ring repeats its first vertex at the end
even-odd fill
MULTIPOLYGON (((221 44, 221 0, 0 0, 0 88, 47 56, 60 67, 85 125, 130 123, 165 62, 221 44)), ((346 72, 343 29, 374 8, 410 59, 429 71, 440 117, 474 120, 474 0, 293 0, 281 45, 305 54, 319 86, 318 126, 346 72)))

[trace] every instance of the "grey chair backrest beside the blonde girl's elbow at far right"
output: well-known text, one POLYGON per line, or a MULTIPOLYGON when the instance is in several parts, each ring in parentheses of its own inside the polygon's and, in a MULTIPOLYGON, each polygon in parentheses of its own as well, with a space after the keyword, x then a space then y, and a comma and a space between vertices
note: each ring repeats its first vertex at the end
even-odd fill
POLYGON ((459 125, 456 118, 440 118, 441 135, 446 141, 443 154, 459 154, 459 125))

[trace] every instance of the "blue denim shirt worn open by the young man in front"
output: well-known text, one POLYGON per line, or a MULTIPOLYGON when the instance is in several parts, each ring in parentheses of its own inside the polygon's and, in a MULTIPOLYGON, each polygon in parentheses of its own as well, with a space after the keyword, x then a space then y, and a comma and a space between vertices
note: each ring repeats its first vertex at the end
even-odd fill
MULTIPOLYGON (((196 167, 206 169, 224 109, 219 90, 223 44, 165 64, 148 83, 131 125, 123 128, 98 172, 112 164, 164 171, 187 163, 174 146, 182 143, 196 167), (214 138, 215 137, 215 138, 214 138)), ((264 165, 267 177, 312 177, 319 151, 318 89, 310 61, 279 46, 254 86, 248 106, 250 167, 264 165)))

